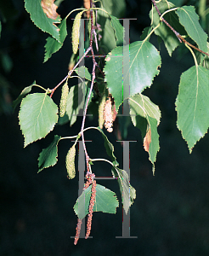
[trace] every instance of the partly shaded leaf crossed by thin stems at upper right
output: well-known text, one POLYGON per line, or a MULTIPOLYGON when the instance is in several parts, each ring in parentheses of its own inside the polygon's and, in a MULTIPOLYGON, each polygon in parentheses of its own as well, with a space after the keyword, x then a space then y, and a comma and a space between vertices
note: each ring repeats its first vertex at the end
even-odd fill
MULTIPOLYGON (((157 7, 160 10, 161 14, 163 14, 167 9, 175 8, 175 5, 164 0, 164 1, 161 1, 161 3, 157 3, 157 7)), ((152 19, 152 15, 153 15, 152 27, 154 28, 160 22, 160 17, 155 8, 153 9, 153 13, 152 13, 152 10, 150 11, 150 19, 152 19)), ((168 12, 166 15, 163 16, 163 18, 165 20, 167 20, 167 22, 177 32, 179 32, 182 35, 186 34, 184 27, 178 21, 178 15, 176 15, 174 11, 168 12)), ((164 22, 161 22, 161 26, 159 26, 155 30, 155 35, 162 38, 162 40, 167 48, 167 52, 170 56, 172 55, 173 50, 176 49, 178 47, 178 45, 181 44, 179 42, 178 38, 176 37, 176 35, 172 32, 172 30, 164 22)))

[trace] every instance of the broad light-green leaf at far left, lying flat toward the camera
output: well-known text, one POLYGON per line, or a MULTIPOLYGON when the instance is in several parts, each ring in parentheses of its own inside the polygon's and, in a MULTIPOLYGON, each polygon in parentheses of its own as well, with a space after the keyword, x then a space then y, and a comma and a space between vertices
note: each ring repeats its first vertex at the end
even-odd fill
POLYGON ((21 102, 19 119, 26 147, 54 129, 58 107, 46 93, 30 94, 21 102))

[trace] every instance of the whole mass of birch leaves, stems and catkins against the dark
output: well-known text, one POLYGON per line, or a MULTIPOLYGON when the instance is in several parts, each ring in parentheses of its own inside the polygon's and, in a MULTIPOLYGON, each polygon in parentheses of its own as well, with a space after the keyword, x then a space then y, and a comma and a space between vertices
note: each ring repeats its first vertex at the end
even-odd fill
MULTIPOLYGON (((160 149, 157 127, 160 125, 161 111, 155 103, 151 102, 149 97, 143 94, 144 89, 153 84, 161 67, 160 52, 150 43, 150 36, 153 33, 164 42, 170 56, 180 44, 185 44, 194 57, 195 65, 181 75, 176 99, 178 129, 188 143, 190 153, 195 143, 205 136, 209 127, 209 106, 207 103, 209 96, 209 47, 207 34, 200 25, 199 16, 192 6, 176 7, 173 4, 178 2, 180 5, 180 1, 170 3, 167 0, 161 0, 156 3, 152 0, 151 2, 153 5, 150 10, 150 27, 144 29, 141 41, 126 44, 124 41, 125 27, 121 26, 117 19, 124 13, 125 1, 121 1, 118 8, 118 3, 115 0, 100 2, 91 0, 88 26, 85 26, 89 46, 77 61, 78 49, 80 50, 79 43, 81 43, 79 40, 83 37, 80 24, 82 16, 89 9, 72 10, 61 20, 56 12, 54 1, 25 0, 25 9, 30 13, 31 20, 43 32, 48 33, 44 61, 48 61, 63 46, 67 37, 66 20, 72 12, 78 11, 71 35, 73 49, 71 70, 53 89, 46 90, 35 82, 27 86, 14 101, 14 108, 21 102, 19 119, 20 129, 25 137, 25 147, 46 137, 49 132, 54 130, 54 125, 57 123, 69 122, 70 126, 73 125, 76 122, 77 114, 82 111, 81 130, 70 137, 55 135, 54 141, 48 148, 42 149, 38 158, 38 172, 41 172, 44 168, 54 166, 57 163, 58 144, 61 139, 76 139, 69 150, 71 155, 69 153, 66 156, 67 171, 70 178, 73 178, 75 177, 75 147, 82 137, 87 165, 87 182, 82 195, 78 197, 74 206, 80 228, 81 219, 85 218, 86 215, 91 222, 93 212, 116 213, 116 207, 118 207, 115 193, 98 183, 94 183, 96 179, 92 172, 94 161, 103 160, 110 164, 113 177, 116 177, 119 183, 121 201, 126 213, 136 198, 136 190, 129 183, 130 177, 125 170, 119 168, 114 154, 114 146, 102 130, 102 124, 105 122, 110 125, 109 128, 112 127, 113 122, 118 118, 116 116, 120 106, 125 105, 125 102, 129 104, 129 114, 133 125, 141 132, 144 150, 148 152, 149 160, 153 165, 153 173, 155 172, 156 155, 160 149), (57 26, 57 24, 59 25, 57 26), (97 62, 95 60, 96 49, 100 55, 106 54, 105 61, 101 59, 97 62), (89 72, 87 67, 80 65, 88 54, 93 57, 92 72, 89 72), (73 77, 73 72, 79 78, 80 83, 68 88, 68 80, 73 77), (58 113, 59 108, 54 102, 53 96, 61 85, 65 86, 63 87, 65 90, 63 90, 60 99, 60 111, 58 113), (33 86, 40 87, 44 92, 29 94, 33 86), (109 104, 110 108, 105 108, 104 99, 106 100, 105 104, 109 104), (96 110, 99 109, 100 128, 84 128, 90 104, 94 104, 93 108, 96 110), (104 104, 102 108, 99 108, 101 107, 100 104, 104 104), (84 133, 89 129, 95 132, 99 131, 104 139, 104 148, 110 160, 93 159, 88 155, 84 133)), ((89 232, 90 229, 88 221, 89 232)), ((78 228, 77 233, 79 233, 78 228)), ((77 240, 78 237, 76 236, 77 240)))

